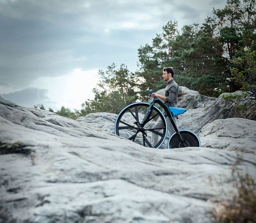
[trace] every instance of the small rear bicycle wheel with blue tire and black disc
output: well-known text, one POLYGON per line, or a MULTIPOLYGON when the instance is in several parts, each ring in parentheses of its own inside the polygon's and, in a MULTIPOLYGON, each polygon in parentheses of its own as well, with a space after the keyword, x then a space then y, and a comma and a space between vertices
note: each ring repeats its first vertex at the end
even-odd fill
POLYGON ((188 129, 179 130, 180 135, 185 140, 185 146, 182 145, 177 132, 174 132, 168 141, 168 149, 182 148, 182 147, 201 147, 201 141, 195 132, 188 129))

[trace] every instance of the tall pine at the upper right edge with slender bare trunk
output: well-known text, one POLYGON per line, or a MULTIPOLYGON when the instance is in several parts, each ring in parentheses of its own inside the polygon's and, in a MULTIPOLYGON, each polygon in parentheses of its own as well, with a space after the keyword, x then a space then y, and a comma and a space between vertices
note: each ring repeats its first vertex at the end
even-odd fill
MULTIPOLYGON (((219 56, 225 58, 226 68, 229 69, 228 78, 231 78, 230 61, 244 54, 244 50, 251 47, 255 38, 255 0, 227 0, 224 9, 213 12, 215 32, 223 49, 219 56)), ((230 92, 239 90, 240 86, 230 80, 230 92)))

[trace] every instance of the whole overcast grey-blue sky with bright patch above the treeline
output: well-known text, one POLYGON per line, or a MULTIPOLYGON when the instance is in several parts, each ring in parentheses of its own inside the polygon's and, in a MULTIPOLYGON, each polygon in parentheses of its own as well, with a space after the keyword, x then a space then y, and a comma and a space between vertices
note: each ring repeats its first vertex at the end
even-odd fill
POLYGON ((98 70, 136 70, 138 48, 170 20, 201 24, 226 0, 0 0, 0 95, 81 109, 98 70))

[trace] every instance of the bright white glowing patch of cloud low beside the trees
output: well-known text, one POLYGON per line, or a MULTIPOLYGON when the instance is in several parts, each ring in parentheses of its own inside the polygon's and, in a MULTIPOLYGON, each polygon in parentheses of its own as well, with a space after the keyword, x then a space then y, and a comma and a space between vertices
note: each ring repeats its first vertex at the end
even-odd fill
POLYGON ((48 99, 41 102, 45 107, 54 111, 61 106, 79 110, 84 101, 94 99, 93 88, 98 80, 98 70, 83 71, 77 68, 64 76, 38 78, 31 87, 48 89, 48 99))

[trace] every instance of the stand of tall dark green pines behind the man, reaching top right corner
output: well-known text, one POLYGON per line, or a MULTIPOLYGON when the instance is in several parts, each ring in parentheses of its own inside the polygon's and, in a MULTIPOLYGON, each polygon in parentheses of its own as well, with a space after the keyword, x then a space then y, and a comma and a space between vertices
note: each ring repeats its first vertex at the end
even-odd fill
POLYGON ((142 95, 148 88, 165 87, 161 78, 164 66, 174 67, 179 85, 204 95, 218 97, 240 88, 231 79, 230 61, 249 47, 255 50, 255 0, 227 0, 223 9, 213 13, 201 27, 184 26, 181 34, 177 22, 170 21, 151 45, 138 49, 142 95))

